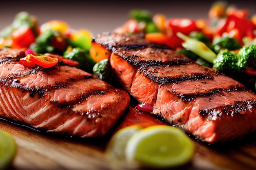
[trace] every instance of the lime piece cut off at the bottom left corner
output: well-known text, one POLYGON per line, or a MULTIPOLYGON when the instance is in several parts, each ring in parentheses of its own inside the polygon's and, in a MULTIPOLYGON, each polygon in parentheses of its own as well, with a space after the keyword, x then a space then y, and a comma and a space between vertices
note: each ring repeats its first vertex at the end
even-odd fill
POLYGON ((8 132, 0 130, 0 170, 9 166, 16 155, 16 150, 13 137, 8 132))

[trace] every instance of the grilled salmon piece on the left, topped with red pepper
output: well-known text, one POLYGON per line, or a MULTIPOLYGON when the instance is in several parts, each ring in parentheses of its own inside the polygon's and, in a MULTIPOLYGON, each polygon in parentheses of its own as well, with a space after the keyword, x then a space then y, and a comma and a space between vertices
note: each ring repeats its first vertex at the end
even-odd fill
POLYGON ((72 137, 102 137, 130 96, 74 66, 19 64, 24 50, 0 50, 0 117, 72 137))

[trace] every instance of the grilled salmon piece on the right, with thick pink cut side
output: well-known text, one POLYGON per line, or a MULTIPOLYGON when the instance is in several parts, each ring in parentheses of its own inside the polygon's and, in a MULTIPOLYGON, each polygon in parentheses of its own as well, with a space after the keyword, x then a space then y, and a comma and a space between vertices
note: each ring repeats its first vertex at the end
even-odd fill
POLYGON ((231 77, 141 34, 93 41, 112 51, 110 64, 125 91, 200 141, 231 141, 256 130, 256 95, 231 77))

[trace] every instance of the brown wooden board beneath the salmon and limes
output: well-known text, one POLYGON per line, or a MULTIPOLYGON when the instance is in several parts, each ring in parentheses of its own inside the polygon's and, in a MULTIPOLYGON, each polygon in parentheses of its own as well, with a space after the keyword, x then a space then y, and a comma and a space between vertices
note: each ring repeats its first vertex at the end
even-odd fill
MULTIPOLYGON (((138 170, 137 164, 111 160, 105 153, 111 135, 103 139, 54 136, 0 119, 18 146, 9 169, 14 170, 138 170)), ((120 126, 119 126, 120 128, 120 126)), ((243 128, 243 127, 241 127, 243 128)), ((111 134, 111 132, 110 132, 111 134)), ((256 170, 256 132, 243 139, 207 145, 194 140, 195 154, 184 170, 256 170)))

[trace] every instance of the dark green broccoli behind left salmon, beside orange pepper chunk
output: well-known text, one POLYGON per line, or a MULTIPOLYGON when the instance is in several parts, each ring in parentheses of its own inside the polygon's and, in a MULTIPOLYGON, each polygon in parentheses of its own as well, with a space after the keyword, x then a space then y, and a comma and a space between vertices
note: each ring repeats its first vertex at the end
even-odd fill
POLYGON ((96 64, 96 62, 92 60, 89 52, 79 47, 73 48, 72 50, 68 48, 67 51, 64 52, 63 57, 79 62, 79 65, 77 65, 76 68, 80 68, 88 72, 91 72, 94 64, 96 64))

